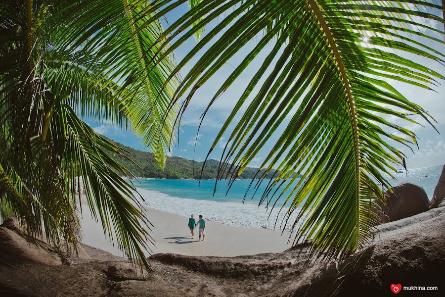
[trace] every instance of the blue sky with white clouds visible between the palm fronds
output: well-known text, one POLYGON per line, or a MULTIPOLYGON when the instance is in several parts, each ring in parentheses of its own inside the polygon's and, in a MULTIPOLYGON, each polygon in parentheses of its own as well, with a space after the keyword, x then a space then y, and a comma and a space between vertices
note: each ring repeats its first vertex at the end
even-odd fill
MULTIPOLYGON (((169 22, 171 23, 178 15, 185 11, 186 7, 182 6, 179 10, 174 13, 167 15, 169 22)), ((437 26, 439 28, 439 23, 432 23, 431 26, 437 26)), ((443 37, 442 37, 443 38, 443 37)), ((187 52, 195 45, 193 40, 187 42, 184 46, 175 51, 175 56, 177 60, 187 54, 187 52)), ((202 88, 200 88, 194 95, 190 105, 185 111, 182 118, 181 131, 179 134, 179 143, 173 151, 170 153, 174 156, 181 156, 187 159, 195 159, 202 161, 207 152, 212 145, 219 129, 223 125, 226 117, 232 110, 235 102, 243 92, 244 88, 247 86, 250 78, 255 73, 255 71, 260 67, 262 59, 259 59, 245 71, 245 74, 240 77, 233 86, 231 86, 223 95, 216 101, 216 103, 211 107, 209 113, 203 121, 203 125, 198 133, 198 125, 200 123, 200 116, 202 112, 207 107, 209 100, 212 98, 214 93, 218 90, 223 80, 233 71, 233 65, 236 65, 237 61, 247 53, 252 46, 255 45, 255 41, 247 44, 244 49, 242 49, 237 55, 235 55, 219 72, 216 73, 214 78, 206 83, 202 88), (197 138, 197 140, 196 140, 197 138), (195 146, 196 142, 196 146, 195 146)), ((270 47, 268 47, 270 49, 270 47)), ((445 51, 445 47, 439 49, 445 51)), ((267 49, 262 52, 263 55, 267 54, 267 49)), ((192 60, 193 61, 193 60, 192 60)), ((420 60, 422 63, 428 65, 429 67, 439 70, 444 73, 444 69, 440 68, 439 65, 434 64, 431 61, 420 60), (441 69, 441 70, 440 70, 441 69)), ((388 116, 388 120, 401 124, 404 127, 409 128, 414 131, 419 139, 419 149, 415 149, 412 153, 409 149, 403 148, 402 150, 407 154, 408 159, 406 160, 408 168, 420 168, 428 167, 434 165, 441 165, 445 163, 445 85, 444 81, 440 82, 442 85, 435 88, 436 92, 426 91, 413 86, 408 86, 395 81, 390 81, 390 83, 396 87, 407 99, 418 103, 426 111, 428 111, 436 120, 436 128, 439 130, 438 134, 431 126, 427 123, 421 121, 425 126, 415 126, 411 124, 406 124, 400 121, 400 119, 392 116, 388 116)), ((117 127, 110 125, 104 125, 98 122, 88 121, 91 127, 100 134, 109 137, 119 143, 127 145, 132 148, 146 150, 139 139, 137 139, 131 132, 121 130, 117 127)), ((226 138, 225 138, 226 139, 226 138)), ((250 166, 257 167, 261 165, 262 160, 266 156, 267 148, 271 147, 271 140, 266 146, 266 148, 253 159, 250 166)), ((220 142, 216 149, 210 155, 211 158, 220 159, 223 150, 224 142, 220 142)))

